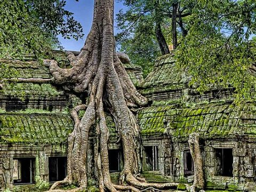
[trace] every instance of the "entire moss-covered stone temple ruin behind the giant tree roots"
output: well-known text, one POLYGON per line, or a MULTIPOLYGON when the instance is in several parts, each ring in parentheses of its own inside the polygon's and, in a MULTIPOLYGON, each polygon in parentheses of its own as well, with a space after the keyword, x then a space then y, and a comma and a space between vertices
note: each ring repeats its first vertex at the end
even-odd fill
MULTIPOLYGON (((65 54, 57 61, 69 67, 65 54)), ((33 58, 0 60, 9 78, 51 78, 42 62, 33 58)), ((142 139, 142 175, 149 182, 194 180, 188 136, 199 134, 205 188, 256 190, 256 102, 234 103, 232 87, 214 87, 199 94, 189 85, 186 71, 175 67, 172 54, 156 60, 145 80, 140 67, 123 63, 149 105, 134 111, 142 139)), ((7 78, 7 77, 6 77, 7 78)), ((0 191, 40 191, 66 176, 67 137, 73 130, 69 109, 82 101, 50 83, 3 83, 0 92, 0 191)), ((81 114, 82 116, 82 114, 81 114)), ((122 145, 113 118, 109 170, 118 182, 122 145)), ((93 133, 88 155, 89 186, 94 186, 93 133)))

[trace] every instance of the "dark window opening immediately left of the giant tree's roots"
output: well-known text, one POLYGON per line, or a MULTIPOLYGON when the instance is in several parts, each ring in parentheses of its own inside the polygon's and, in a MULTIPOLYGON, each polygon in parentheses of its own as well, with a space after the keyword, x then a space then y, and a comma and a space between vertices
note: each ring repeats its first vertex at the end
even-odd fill
POLYGON ((67 175, 67 157, 49 157, 49 182, 61 181, 67 175))

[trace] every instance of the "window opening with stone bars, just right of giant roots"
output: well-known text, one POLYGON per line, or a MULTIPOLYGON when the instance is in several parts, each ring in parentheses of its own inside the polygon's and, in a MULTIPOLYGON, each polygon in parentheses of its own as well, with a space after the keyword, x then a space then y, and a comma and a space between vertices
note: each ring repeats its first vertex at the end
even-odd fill
POLYGON ((157 171, 158 166, 158 146, 144 146, 145 159, 144 170, 145 171, 157 171))

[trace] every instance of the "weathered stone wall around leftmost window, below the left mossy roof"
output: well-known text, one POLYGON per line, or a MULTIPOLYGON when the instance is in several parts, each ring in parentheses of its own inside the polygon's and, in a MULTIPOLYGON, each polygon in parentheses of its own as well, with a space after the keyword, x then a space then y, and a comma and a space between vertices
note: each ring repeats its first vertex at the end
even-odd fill
MULTIPOLYGON (((9 144, 0 145, 0 181, 1 191, 13 189, 14 191, 36 191, 36 188, 47 187, 49 182, 49 157, 66 157, 66 143, 63 145, 32 145, 9 144), (33 159, 33 183, 36 185, 15 185, 13 183, 14 159, 33 159)), ((29 165, 26 165, 29 166, 29 165)), ((29 183, 30 184, 30 183, 29 183)))

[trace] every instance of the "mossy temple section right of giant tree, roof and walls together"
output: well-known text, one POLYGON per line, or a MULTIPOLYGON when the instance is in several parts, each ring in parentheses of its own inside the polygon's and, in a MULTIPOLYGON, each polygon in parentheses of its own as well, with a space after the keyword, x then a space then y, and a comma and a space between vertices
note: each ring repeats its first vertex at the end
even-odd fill
POLYGON ((159 172, 171 181, 193 182, 188 137, 196 132, 206 189, 255 191, 255 91, 250 101, 237 105, 233 87, 212 86, 199 94, 189 79, 170 54, 156 60, 139 86, 151 103, 137 115, 142 138, 148 143, 162 140, 159 158, 163 155, 164 163, 159 172))

